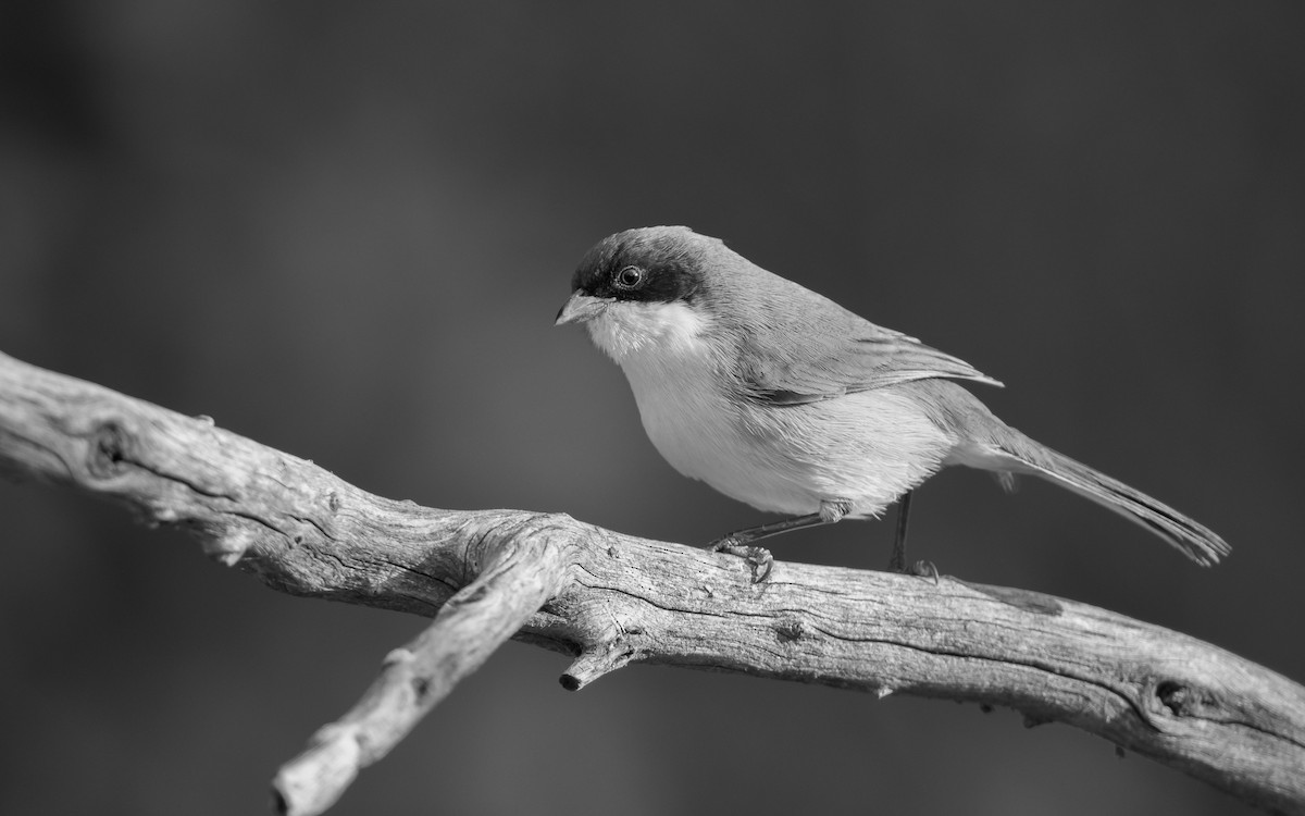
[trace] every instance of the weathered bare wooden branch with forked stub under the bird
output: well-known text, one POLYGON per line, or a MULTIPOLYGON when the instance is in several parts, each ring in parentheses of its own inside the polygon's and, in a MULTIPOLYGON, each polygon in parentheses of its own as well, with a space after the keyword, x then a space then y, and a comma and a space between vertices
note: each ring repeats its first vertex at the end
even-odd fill
POLYGON ((274 779, 320 813, 509 638, 574 655, 1004 705, 1305 813, 1305 688, 1113 612, 942 577, 740 559, 564 514, 367 494, 312 462, 0 354, 0 471, 108 496, 281 591, 432 618, 274 779))

